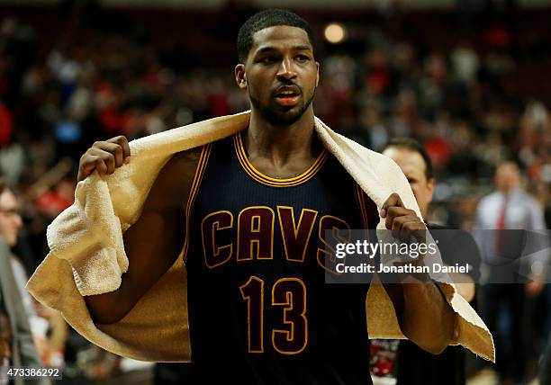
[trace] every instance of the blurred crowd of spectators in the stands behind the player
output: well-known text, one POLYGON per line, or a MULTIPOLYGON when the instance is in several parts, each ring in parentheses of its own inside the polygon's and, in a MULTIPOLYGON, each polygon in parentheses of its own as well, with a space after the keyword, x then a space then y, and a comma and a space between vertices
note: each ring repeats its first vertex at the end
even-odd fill
MULTIPOLYGON (((47 254, 46 227, 72 203, 78 159, 95 140, 119 134, 136 139, 248 109, 231 65, 190 59, 192 65, 179 67, 187 53, 174 43, 178 31, 156 41, 147 31, 95 27, 84 22, 82 9, 65 11, 64 24, 50 30, 47 22, 39 28, 21 17, 0 19, 0 174, 20 197, 24 226, 14 254, 27 273, 47 254)), ((379 22, 361 34, 351 30, 348 43, 318 41, 321 82, 314 109, 331 128, 368 148, 394 137, 419 139, 438 180, 431 221, 472 228, 477 202, 492 190, 494 167, 513 158, 524 186, 546 208, 548 227, 551 99, 516 94, 508 79, 530 60, 529 49, 519 47, 532 40, 519 40, 510 21, 497 14, 479 33, 459 33, 448 49, 420 46, 407 30, 386 31, 385 22, 397 17, 392 12, 378 15, 379 22)), ((210 44, 205 49, 216 50, 216 40, 196 33, 210 44)), ((546 336, 540 339, 543 344, 546 336)), ((43 358, 59 360, 61 354, 69 369, 90 381, 121 372, 121 360, 105 358, 74 333, 66 344, 43 350, 57 354, 43 358), (101 364, 90 370, 93 363, 101 364)))

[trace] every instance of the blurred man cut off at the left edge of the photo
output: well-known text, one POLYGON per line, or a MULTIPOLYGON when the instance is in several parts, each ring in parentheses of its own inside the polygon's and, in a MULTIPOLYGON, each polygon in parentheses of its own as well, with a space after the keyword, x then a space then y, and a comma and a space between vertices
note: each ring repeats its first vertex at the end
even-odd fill
MULTIPOLYGON (((0 180, 0 367, 7 362, 15 368, 37 368, 42 363, 33 342, 29 314, 16 282, 10 251, 17 243, 22 224, 17 199, 5 181, 0 180)), ((15 378, 14 383, 46 382, 15 378)))

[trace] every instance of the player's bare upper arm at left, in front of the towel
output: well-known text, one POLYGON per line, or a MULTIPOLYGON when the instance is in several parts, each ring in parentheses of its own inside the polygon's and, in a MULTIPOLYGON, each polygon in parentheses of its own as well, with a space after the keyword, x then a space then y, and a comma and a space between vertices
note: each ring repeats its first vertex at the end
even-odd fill
POLYGON ((199 156, 198 149, 178 153, 158 174, 140 219, 123 235, 129 267, 121 286, 85 297, 95 322, 111 324, 124 318, 175 263, 184 244, 184 208, 199 156))

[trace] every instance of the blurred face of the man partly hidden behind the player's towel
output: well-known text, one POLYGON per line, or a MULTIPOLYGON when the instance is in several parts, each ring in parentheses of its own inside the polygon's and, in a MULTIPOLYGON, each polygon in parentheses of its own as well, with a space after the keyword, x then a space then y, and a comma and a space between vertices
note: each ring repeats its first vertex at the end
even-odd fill
POLYGON ((383 151, 383 155, 390 157, 400 168, 402 173, 408 178, 411 185, 411 191, 415 195, 417 204, 423 217, 427 216, 429 203, 432 201, 434 193, 434 178, 427 180, 425 175, 425 160, 417 151, 411 151, 407 148, 390 147, 383 151))

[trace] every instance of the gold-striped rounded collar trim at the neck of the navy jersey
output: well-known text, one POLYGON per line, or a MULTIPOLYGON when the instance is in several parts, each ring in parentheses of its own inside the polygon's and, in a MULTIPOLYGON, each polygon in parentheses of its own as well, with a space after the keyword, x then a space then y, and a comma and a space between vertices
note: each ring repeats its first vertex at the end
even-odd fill
POLYGON ((243 169, 247 172, 249 176, 255 179, 261 184, 266 184, 272 187, 291 187, 298 184, 303 184, 310 179, 313 175, 316 175, 320 171, 321 166, 325 163, 329 157, 329 151, 323 149, 321 154, 317 157, 316 161, 313 163, 310 168, 303 172, 303 174, 295 176, 294 178, 288 179, 276 179, 269 176, 266 176, 260 173, 249 161, 247 157, 247 152, 245 151, 245 146, 243 145, 243 139, 241 138, 241 132, 238 132, 233 136, 233 142, 235 144, 235 152, 239 158, 239 163, 243 166, 243 169))

